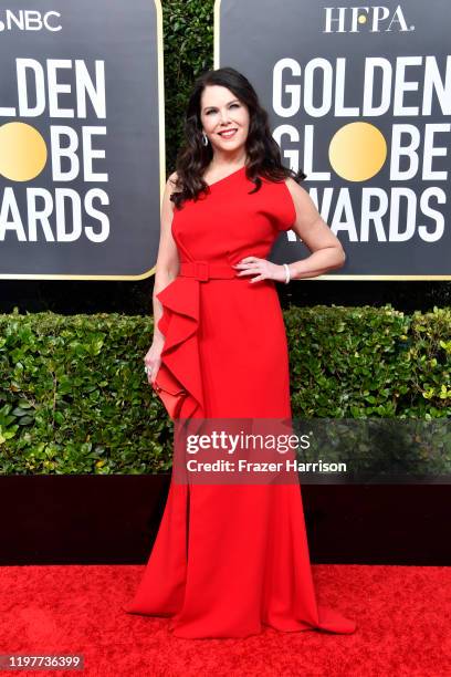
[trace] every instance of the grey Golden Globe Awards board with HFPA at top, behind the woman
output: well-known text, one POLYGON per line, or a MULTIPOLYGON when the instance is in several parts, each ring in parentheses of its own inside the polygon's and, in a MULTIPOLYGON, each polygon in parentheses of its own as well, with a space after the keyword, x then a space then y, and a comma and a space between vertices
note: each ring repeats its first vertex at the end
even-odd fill
MULTIPOLYGON (((346 250, 317 279, 451 279, 448 14, 445 0, 217 3, 216 67, 256 84, 284 164, 346 250)), ((289 231, 271 259, 308 253, 289 231)))

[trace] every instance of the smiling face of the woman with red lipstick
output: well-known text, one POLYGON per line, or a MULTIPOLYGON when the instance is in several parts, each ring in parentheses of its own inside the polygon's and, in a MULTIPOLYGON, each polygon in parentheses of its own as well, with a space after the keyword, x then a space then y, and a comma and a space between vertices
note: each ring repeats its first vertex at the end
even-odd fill
POLYGON ((200 122, 213 152, 235 154, 244 146, 249 133, 249 110, 227 87, 209 85, 203 90, 200 122))

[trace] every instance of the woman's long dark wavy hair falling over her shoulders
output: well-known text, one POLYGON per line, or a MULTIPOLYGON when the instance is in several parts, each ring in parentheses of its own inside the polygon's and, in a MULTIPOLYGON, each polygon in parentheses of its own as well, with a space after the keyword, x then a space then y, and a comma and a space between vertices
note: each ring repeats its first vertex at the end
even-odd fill
POLYGON ((211 144, 202 144, 202 125, 200 122, 200 97, 203 90, 209 85, 220 85, 230 90, 249 111, 249 134, 245 142, 248 155, 247 176, 255 184, 250 192, 260 190, 262 181, 260 177, 273 181, 284 180, 292 177, 297 183, 306 178, 302 171, 293 171, 282 165, 281 152, 273 139, 268 122, 268 113, 260 105, 255 90, 249 80, 232 67, 207 71, 200 75, 188 102, 185 118, 185 143, 180 147, 177 162, 177 191, 172 192, 170 199, 177 208, 185 200, 197 199, 200 192, 208 192, 209 186, 202 179, 204 169, 211 162, 213 152, 211 144))

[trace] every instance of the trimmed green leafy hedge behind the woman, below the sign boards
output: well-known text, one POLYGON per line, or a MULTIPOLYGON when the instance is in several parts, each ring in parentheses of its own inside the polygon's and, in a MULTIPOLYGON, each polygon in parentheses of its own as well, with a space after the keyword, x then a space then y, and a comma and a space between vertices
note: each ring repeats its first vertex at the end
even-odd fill
MULTIPOLYGON (((293 417, 451 415, 451 309, 284 311, 293 417)), ((153 319, 0 315, 0 472, 171 467, 172 424, 143 369, 153 319)))

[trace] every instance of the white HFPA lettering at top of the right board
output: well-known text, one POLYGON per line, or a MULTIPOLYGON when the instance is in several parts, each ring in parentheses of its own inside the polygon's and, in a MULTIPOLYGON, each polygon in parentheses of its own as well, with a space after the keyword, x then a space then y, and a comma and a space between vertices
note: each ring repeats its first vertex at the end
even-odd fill
POLYGON ((400 4, 391 13, 388 7, 325 7, 324 10, 323 33, 415 31, 415 25, 407 25, 400 4))

